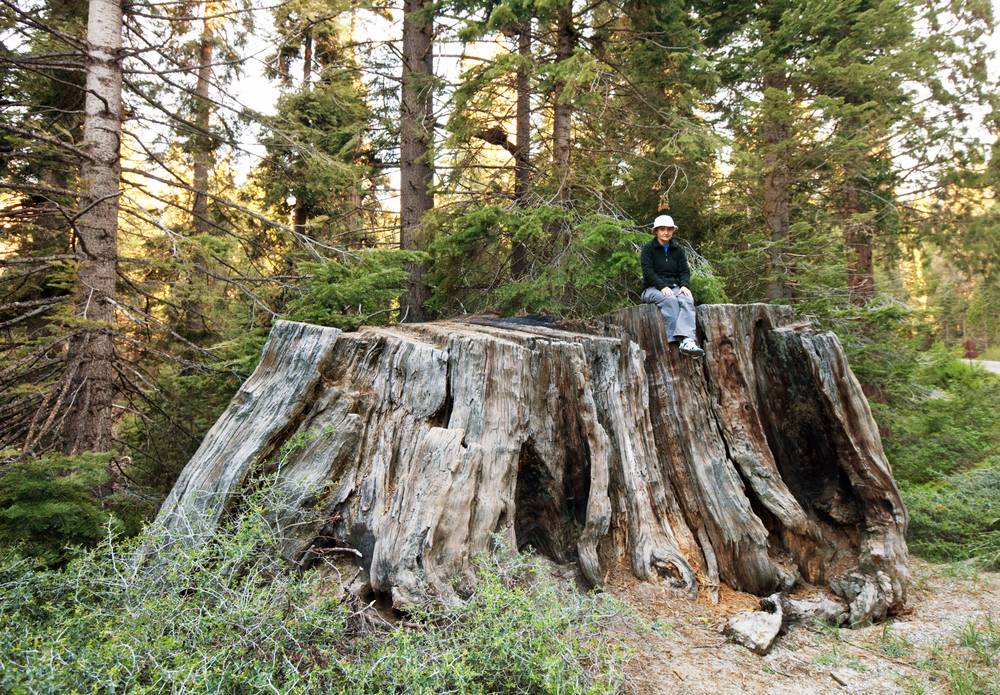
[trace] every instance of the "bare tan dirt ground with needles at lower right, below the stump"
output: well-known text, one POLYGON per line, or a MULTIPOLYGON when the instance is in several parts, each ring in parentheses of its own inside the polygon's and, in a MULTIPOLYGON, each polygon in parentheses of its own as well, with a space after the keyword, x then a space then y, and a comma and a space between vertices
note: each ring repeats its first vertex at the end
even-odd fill
POLYGON ((718 605, 675 598, 622 577, 608 589, 648 624, 610 629, 633 650, 626 692, 1000 693, 1000 574, 913 559, 907 611, 847 629, 796 625, 766 656, 728 642, 726 619, 756 597, 724 591, 718 605))

